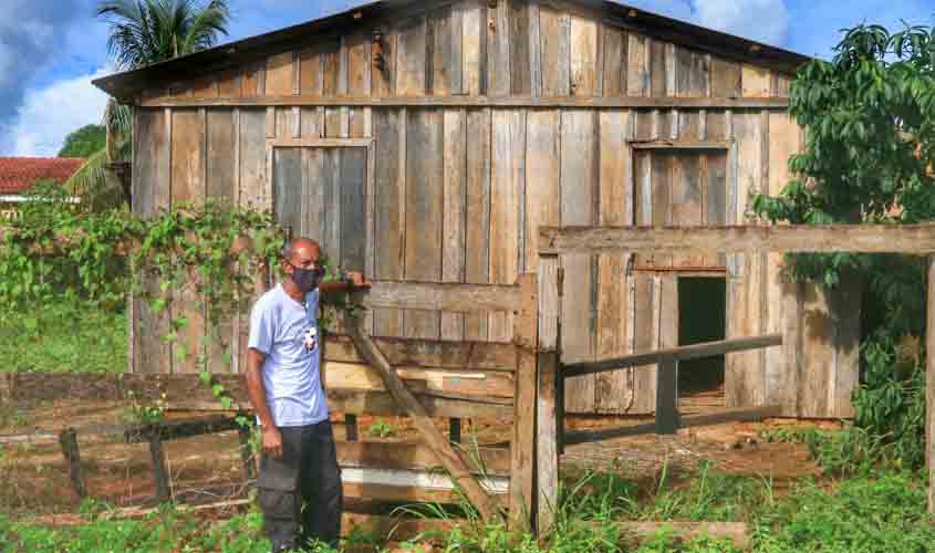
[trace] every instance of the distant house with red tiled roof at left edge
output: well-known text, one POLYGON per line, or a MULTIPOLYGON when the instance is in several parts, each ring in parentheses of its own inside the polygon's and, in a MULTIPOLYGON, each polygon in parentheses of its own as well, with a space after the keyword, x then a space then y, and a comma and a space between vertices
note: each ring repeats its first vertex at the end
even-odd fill
POLYGON ((0 219, 17 217, 17 205, 39 181, 63 184, 84 159, 61 157, 0 157, 0 219))

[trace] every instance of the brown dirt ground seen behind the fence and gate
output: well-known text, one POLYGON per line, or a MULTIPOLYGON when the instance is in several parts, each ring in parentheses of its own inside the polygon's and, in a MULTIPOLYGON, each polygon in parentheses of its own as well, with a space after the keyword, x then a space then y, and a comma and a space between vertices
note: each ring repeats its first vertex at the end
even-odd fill
MULTIPOLYGON (((688 408, 696 411, 713 409, 717 400, 708 403, 714 405, 702 400, 688 408)), ((25 519, 74 512, 79 501, 72 491, 69 467, 58 444, 58 431, 65 427, 81 429, 121 424, 126 407, 61 401, 31 408, 3 406, 0 409, 0 510, 25 519), (42 432, 45 432, 45 438, 35 441, 9 440, 11 436, 41 436, 42 432)), ((191 418, 193 415, 175 413, 169 418, 191 418)), ((344 439, 343 416, 335 415, 333 420, 337 439, 344 439)), ((648 420, 652 419, 570 416, 567 425, 569 430, 578 430, 645 424, 648 420)), ((446 420, 438 420, 438 425, 447 430, 446 420)), ((760 439, 763 429, 790 425, 814 426, 790 420, 725 424, 683 429, 672 437, 644 435, 569 446, 562 457, 562 474, 575 478, 590 468, 612 470, 637 482, 652 482, 663 469, 690 471, 699 461, 710 460, 720 471, 770 479, 781 493, 788 483, 819 472, 809 460, 804 446, 760 439)), ((417 439, 403 418, 360 417, 359 427, 362 440, 417 439)), ((465 421, 463 429, 465 442, 476 437, 479 445, 503 444, 509 440, 510 434, 511 427, 507 422, 465 421)), ((83 436, 81 432, 79 442, 92 498, 115 507, 153 504, 154 482, 147 444, 127 445, 121 435, 83 436)), ((165 449, 173 491, 179 501, 211 503, 247 497, 249 483, 240 459, 237 432, 168 441, 165 449)))

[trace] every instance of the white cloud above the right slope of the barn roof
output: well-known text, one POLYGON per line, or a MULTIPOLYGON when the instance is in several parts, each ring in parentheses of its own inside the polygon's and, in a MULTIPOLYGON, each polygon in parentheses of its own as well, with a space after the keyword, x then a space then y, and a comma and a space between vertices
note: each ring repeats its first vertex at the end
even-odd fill
POLYGON ((789 35, 789 9, 785 0, 694 0, 703 27, 747 39, 782 45, 789 35))

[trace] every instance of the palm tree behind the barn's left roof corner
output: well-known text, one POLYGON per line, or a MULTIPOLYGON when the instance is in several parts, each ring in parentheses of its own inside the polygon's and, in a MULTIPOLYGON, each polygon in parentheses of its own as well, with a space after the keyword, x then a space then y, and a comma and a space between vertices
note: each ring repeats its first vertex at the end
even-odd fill
MULTIPOLYGON (((102 0, 97 17, 111 25, 107 52, 121 71, 186 55, 217 44, 230 22, 228 0, 102 0)), ((108 167, 128 159, 133 144, 129 108, 113 98, 104 111, 107 144, 66 186, 90 209, 128 204, 126 180, 108 167)))

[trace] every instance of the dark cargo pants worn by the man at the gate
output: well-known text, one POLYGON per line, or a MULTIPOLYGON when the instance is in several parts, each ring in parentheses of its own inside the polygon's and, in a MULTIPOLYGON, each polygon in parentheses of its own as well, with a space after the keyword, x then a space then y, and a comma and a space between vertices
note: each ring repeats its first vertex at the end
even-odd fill
POLYGON ((312 539, 336 547, 343 498, 331 422, 280 431, 282 458, 263 456, 257 480, 272 550, 300 549, 312 539))

